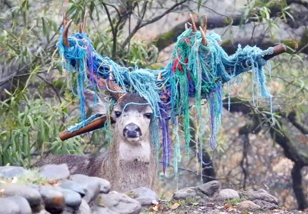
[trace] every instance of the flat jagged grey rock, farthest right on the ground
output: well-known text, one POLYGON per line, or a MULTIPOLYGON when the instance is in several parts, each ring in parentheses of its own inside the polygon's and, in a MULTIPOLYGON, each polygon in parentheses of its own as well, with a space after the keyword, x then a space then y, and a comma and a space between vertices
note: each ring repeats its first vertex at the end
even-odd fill
POLYGON ((243 191, 239 190, 237 191, 238 195, 241 198, 245 198, 250 201, 254 201, 256 199, 269 202, 275 205, 278 205, 278 199, 270 194, 268 194, 265 190, 260 189, 258 191, 243 191))

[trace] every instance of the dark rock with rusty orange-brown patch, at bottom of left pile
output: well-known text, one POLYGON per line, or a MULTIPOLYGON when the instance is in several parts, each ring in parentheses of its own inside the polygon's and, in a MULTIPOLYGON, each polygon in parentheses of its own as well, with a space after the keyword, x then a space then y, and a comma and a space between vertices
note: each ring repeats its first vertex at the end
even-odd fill
POLYGON ((65 199, 60 191, 48 186, 40 186, 39 191, 48 212, 52 214, 62 213, 65 207, 65 199))

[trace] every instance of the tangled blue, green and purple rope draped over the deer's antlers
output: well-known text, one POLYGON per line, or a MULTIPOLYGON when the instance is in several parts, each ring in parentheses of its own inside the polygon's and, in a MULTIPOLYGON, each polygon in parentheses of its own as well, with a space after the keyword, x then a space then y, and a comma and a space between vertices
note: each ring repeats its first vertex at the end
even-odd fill
MULTIPOLYGON (((212 134, 210 145, 214 150, 217 146, 216 134, 222 118, 223 85, 230 80, 240 82, 240 74, 252 71, 252 94, 254 90, 263 97, 270 98, 266 88, 263 67, 270 65, 268 59, 286 49, 283 45, 268 48, 265 51, 257 47, 240 45, 233 56, 221 48, 221 37, 213 31, 206 35, 206 16, 204 26, 197 30, 191 17, 191 27, 185 25, 186 30, 178 37, 169 64, 159 70, 141 69, 135 66, 123 67, 109 59, 100 56, 92 47, 91 40, 84 33, 85 20, 79 33, 68 36, 68 28, 72 22, 66 21, 58 45, 66 71, 77 71, 77 91, 80 101, 81 123, 69 129, 76 132, 99 115, 85 119, 84 95, 86 87, 91 86, 109 91, 113 97, 120 99, 124 93, 134 92, 144 97, 153 109, 152 138, 158 149, 163 151, 163 171, 169 163, 172 143, 169 138, 169 121, 174 124, 175 134, 174 168, 177 170, 177 160, 180 157, 179 137, 177 134, 179 116, 184 117, 185 148, 189 151, 190 125, 189 100, 193 99, 196 106, 196 140, 197 152, 201 159, 202 136, 204 124, 201 115, 202 100, 209 104, 209 115, 212 134), (158 120, 156 120, 158 119, 158 120), (158 142, 158 130, 162 130, 162 143, 158 142)), ((230 94, 230 93, 229 93, 230 94)), ((254 98, 253 98, 254 99, 254 98)), ((112 103, 112 102, 110 102, 112 103)), ((92 129, 93 130, 93 129, 92 129)), ((92 131, 91 130, 91 131, 92 131)), ((202 161, 202 160, 201 160, 202 161)), ((207 164, 207 163, 204 163, 207 164)))

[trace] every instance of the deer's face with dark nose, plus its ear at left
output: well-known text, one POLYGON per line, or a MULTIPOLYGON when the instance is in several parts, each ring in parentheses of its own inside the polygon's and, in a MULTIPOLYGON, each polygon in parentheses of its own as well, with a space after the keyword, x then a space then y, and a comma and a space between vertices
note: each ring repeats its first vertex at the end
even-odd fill
MULTIPOLYGON (((106 114, 106 105, 97 95, 94 103, 94 92, 84 92, 85 103, 96 114, 106 114)), ((114 124, 114 136, 126 143, 135 144, 149 136, 153 111, 148 102, 134 93, 125 94, 111 112, 114 124)))

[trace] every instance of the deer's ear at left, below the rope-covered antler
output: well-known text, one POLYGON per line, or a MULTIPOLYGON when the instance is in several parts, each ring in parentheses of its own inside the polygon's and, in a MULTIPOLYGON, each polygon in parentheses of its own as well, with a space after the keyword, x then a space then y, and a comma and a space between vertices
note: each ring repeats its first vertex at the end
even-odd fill
POLYGON ((85 105, 92 110, 95 114, 107 114, 106 102, 102 101, 97 93, 91 90, 84 90, 85 105), (96 102, 94 100, 96 99, 96 102))

